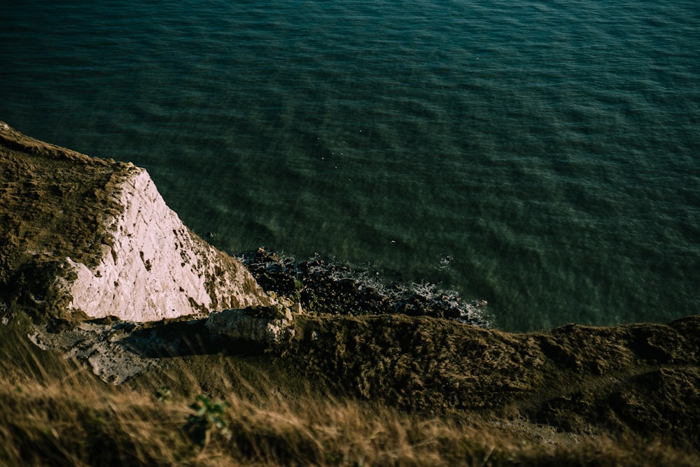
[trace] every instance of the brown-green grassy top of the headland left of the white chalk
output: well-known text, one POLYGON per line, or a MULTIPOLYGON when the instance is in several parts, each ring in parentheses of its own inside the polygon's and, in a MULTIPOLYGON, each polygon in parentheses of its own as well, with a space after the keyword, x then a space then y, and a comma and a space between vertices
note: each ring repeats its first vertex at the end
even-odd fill
POLYGON ((116 187, 133 170, 0 122, 0 298, 46 301, 48 278, 65 257, 97 264, 110 242, 104 220, 123 209, 116 187))

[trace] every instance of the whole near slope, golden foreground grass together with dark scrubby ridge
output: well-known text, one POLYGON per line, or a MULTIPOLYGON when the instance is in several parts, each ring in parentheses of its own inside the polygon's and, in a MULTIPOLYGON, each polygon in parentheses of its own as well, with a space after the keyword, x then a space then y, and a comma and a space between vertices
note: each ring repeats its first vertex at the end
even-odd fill
POLYGON ((517 335, 429 317, 308 317, 277 351, 181 336, 190 350, 152 357, 120 386, 27 343, 21 321, 0 326, 0 464, 700 461, 699 338, 685 335, 700 336, 696 318, 517 335), (221 424, 192 408, 200 395, 221 424), (199 435, 193 417, 204 417, 199 435))

